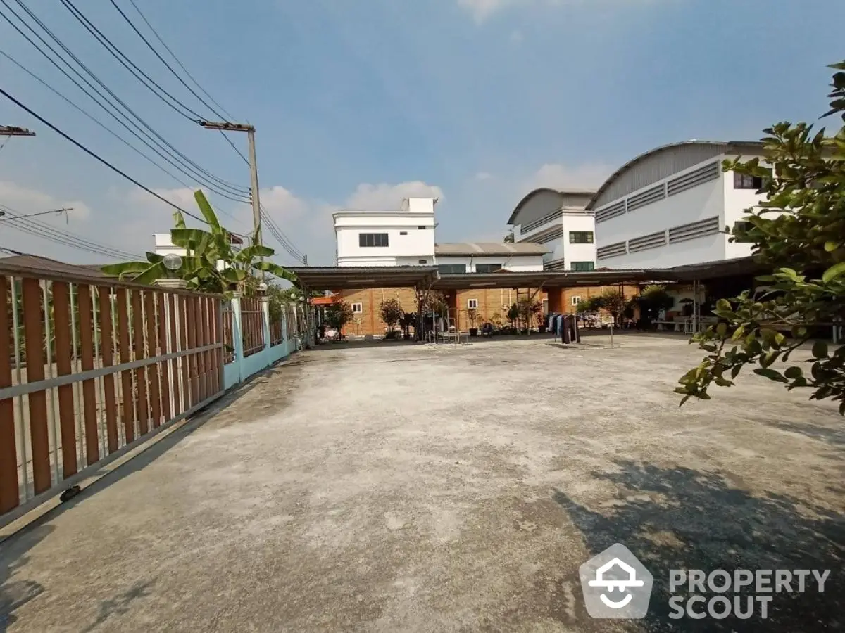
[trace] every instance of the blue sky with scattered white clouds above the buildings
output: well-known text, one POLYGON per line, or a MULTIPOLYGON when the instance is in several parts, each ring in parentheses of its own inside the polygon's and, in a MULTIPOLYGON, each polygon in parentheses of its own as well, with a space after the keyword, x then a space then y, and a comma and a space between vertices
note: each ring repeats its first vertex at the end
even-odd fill
MULTIPOLYGON (((57 0, 23 1, 183 154, 248 185, 220 134, 146 91, 57 0)), ((150 35, 128 0, 115 2, 150 35)), ((204 89, 254 124, 262 201, 309 263, 324 264, 336 208, 397 208, 401 197, 432 193, 442 198, 439 241, 498 241, 533 187, 597 186, 662 143, 759 138, 772 122, 815 119, 826 106, 826 64, 842 59, 845 21, 838 0, 136 2, 204 89)), ((214 118, 110 0, 74 4, 139 68, 214 118)), ((132 138, 3 20, 0 51, 132 138)), ((189 189, 4 57, 0 85, 148 187, 192 204, 189 189)), ((163 203, 2 98, 0 124, 38 133, 0 149, 0 203, 25 213, 73 206, 69 219, 45 221, 129 252, 170 228, 163 203)), ((243 135, 232 140, 246 150, 243 135)), ((223 218, 232 230, 248 230, 248 208, 210 197, 235 217, 223 218)), ((104 259, 3 222, 0 246, 104 259)))

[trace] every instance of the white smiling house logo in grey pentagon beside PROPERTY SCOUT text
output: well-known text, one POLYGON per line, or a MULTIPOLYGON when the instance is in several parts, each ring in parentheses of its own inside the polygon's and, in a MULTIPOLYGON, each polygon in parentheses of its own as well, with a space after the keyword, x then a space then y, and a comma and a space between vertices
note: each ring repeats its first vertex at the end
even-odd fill
POLYGON ((615 544, 581 565, 581 590, 593 618, 646 617, 653 576, 630 549, 615 544))

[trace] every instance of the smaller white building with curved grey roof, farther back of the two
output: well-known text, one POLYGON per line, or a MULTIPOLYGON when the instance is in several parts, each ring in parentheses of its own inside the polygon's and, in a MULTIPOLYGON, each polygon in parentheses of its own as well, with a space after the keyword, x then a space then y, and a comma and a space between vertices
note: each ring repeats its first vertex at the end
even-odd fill
POLYGON ((528 193, 508 219, 515 242, 546 246, 546 270, 593 270, 595 219, 586 206, 595 193, 545 188, 528 193))

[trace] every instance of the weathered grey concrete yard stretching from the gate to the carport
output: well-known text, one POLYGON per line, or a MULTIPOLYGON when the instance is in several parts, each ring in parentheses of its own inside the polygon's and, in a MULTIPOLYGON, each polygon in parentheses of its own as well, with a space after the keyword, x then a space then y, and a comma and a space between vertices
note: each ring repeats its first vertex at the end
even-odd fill
POLYGON ((679 409, 700 353, 616 340, 298 354, 0 544, 0 630, 842 630, 835 409, 753 375, 679 409), (646 619, 586 613, 616 542, 646 619), (680 568, 831 576, 679 621, 680 568))

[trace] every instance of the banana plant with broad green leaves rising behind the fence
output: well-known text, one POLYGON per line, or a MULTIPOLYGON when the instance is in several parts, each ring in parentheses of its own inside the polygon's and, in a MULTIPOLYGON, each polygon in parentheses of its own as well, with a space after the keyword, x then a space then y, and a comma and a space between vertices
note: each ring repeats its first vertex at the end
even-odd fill
MULTIPOLYGON (((232 234, 217 219, 204 193, 194 192, 200 213, 208 224, 208 230, 188 228, 181 211, 173 214, 175 227, 170 231, 171 241, 175 246, 185 249, 182 266, 175 274, 188 282, 189 289, 218 295, 231 295, 237 290, 251 295, 259 284, 259 271, 264 271, 286 279, 297 281, 296 275, 273 262, 262 261, 263 257, 272 257, 275 251, 269 246, 257 242, 259 230, 250 235, 250 245, 240 251, 232 248, 232 234)), ((123 262, 104 266, 102 271, 119 279, 128 279, 138 284, 153 284, 156 279, 164 279, 174 273, 167 270, 164 257, 156 253, 146 253, 145 262, 123 262)))

